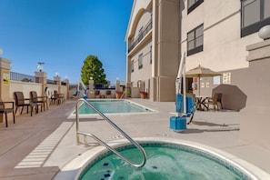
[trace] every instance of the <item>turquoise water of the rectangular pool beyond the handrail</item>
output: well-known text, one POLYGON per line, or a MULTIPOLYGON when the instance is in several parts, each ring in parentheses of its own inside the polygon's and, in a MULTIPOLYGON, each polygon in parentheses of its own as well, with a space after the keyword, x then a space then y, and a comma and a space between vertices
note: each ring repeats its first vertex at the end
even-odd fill
MULTIPOLYGON (((125 100, 88 100, 88 102, 95 105, 95 107, 104 114, 152 112, 146 107, 135 105, 125 100)), ((79 114, 95 114, 95 111, 84 104, 79 107, 79 114)))

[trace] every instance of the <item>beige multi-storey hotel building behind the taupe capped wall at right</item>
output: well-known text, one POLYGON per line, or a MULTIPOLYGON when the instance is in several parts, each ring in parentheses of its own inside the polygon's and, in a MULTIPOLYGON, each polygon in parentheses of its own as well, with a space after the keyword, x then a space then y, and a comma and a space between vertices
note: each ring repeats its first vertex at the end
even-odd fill
MULTIPOLYGON (((133 96, 147 91, 152 101, 174 101, 182 52, 186 71, 202 65, 224 74, 217 84, 202 78, 201 95, 212 95, 219 84, 237 85, 234 74, 249 66, 246 46, 262 41, 257 32, 270 24, 269 7, 269 0, 135 0, 125 37, 126 81, 139 87, 133 96)), ((187 88, 197 94, 194 80, 187 88)))

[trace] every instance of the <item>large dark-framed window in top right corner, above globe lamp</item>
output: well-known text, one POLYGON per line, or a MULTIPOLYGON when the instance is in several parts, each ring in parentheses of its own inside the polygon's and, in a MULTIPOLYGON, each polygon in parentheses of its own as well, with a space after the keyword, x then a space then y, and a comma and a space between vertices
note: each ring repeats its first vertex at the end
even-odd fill
POLYGON ((241 37, 270 24, 270 0, 241 0, 241 37))

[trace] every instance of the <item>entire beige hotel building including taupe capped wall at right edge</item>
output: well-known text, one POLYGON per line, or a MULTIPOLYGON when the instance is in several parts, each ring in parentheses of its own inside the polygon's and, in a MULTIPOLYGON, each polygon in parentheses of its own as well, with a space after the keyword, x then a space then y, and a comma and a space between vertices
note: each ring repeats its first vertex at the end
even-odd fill
POLYGON ((175 101, 185 52, 186 71, 202 65, 221 74, 187 79, 187 91, 222 93, 223 107, 240 111, 241 137, 270 149, 270 39, 258 36, 265 25, 270 0, 134 0, 125 37, 132 96, 145 89, 151 101, 175 101))

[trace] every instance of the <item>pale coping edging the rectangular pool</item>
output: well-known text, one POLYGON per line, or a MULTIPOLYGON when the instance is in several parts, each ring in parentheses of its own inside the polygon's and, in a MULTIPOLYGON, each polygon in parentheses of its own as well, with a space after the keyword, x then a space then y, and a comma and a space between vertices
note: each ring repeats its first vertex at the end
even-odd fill
MULTIPOLYGON (((130 104, 134 104, 134 105, 138 105, 141 106, 147 110, 149 110, 149 112, 137 112, 137 113, 104 113, 104 115, 151 115, 151 114, 155 114, 158 113, 156 110, 149 108, 145 105, 140 105, 138 103, 135 103, 133 101, 129 101, 127 99, 86 99, 86 100, 91 100, 91 101, 101 101, 101 100, 114 100, 114 101, 126 101, 129 102, 130 104)), ((81 104, 83 105, 83 104, 81 104)), ((83 115, 79 115, 80 118, 87 118, 87 117, 91 117, 91 118, 95 118, 95 117, 100 117, 100 115, 97 114, 83 114, 83 115)), ((72 113, 70 115, 67 116, 67 119, 75 119, 75 110, 72 111, 72 113)))

